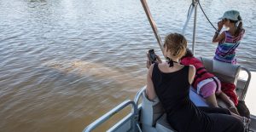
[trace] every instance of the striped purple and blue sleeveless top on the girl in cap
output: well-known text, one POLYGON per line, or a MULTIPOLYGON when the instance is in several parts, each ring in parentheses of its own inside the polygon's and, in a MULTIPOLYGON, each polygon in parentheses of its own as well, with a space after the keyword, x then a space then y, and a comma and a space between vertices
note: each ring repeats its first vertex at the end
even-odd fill
POLYGON ((237 37, 233 37, 229 31, 224 31, 225 38, 218 43, 214 60, 236 64, 236 48, 239 46, 245 30, 242 29, 237 37))

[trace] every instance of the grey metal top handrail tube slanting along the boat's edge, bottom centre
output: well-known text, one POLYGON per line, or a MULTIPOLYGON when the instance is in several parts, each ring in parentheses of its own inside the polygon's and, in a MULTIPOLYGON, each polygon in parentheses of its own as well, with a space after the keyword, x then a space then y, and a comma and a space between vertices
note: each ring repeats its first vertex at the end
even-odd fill
MULTIPOLYGON (((92 129, 95 129, 98 125, 104 123, 105 121, 107 121, 109 118, 111 118, 114 114, 116 114, 117 112, 119 112, 120 110, 124 109, 126 106, 131 105, 133 108, 133 115, 135 115, 137 113, 137 106, 135 105, 135 102, 132 100, 125 100, 124 102, 122 102, 121 104, 119 104, 119 106, 114 107, 110 112, 107 112, 106 114, 104 114, 101 118, 96 119, 96 121, 94 121, 93 123, 90 123, 90 125, 88 125, 83 132, 90 132, 92 129)), ((133 128, 135 128, 135 123, 132 124, 133 128)))

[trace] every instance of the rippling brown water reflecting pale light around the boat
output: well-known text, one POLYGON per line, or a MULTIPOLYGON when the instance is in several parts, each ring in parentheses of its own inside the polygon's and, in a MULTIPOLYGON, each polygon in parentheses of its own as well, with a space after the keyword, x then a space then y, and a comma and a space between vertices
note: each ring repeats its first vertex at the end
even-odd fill
MULTIPOLYGON (((148 1, 162 38, 182 31, 190 2, 148 1)), ((215 26, 241 12, 237 58, 255 71, 256 2, 201 5, 215 26)), ((212 58, 214 30, 198 12, 196 54, 212 58)), ((139 0, 0 0, 0 31, 0 131, 81 131, 145 85, 148 49, 160 55, 139 0)))

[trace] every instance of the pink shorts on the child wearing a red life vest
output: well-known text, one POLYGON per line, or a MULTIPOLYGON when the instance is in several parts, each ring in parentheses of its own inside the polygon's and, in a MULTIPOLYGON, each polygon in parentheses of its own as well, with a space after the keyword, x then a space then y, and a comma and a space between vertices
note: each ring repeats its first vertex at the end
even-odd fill
POLYGON ((221 85, 220 85, 220 81, 218 79, 215 79, 218 83, 218 86, 217 84, 215 83, 215 81, 211 81, 209 83, 206 83, 204 84, 201 89, 200 89, 200 95, 203 97, 203 98, 207 98, 208 96, 210 95, 213 95, 215 93, 220 93, 221 92, 221 85))

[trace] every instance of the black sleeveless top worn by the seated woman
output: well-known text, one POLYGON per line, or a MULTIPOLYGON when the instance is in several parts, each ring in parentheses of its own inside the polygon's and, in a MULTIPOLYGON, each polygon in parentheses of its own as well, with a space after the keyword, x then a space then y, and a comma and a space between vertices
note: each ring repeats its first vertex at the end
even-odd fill
POLYGON ((211 129, 211 120, 189 99, 189 66, 183 66, 176 72, 161 72, 157 63, 152 73, 154 90, 167 120, 180 132, 207 132, 211 129))

